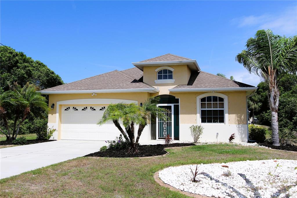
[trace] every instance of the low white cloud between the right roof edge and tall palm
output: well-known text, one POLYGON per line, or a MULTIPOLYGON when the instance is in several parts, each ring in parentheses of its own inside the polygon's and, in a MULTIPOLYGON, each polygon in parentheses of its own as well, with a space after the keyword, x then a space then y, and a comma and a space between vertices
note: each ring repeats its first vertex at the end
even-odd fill
POLYGON ((249 85, 257 86, 259 82, 263 81, 261 77, 250 74, 247 70, 237 70, 226 73, 227 78, 230 78, 230 76, 233 76, 236 81, 243 82, 249 85))

